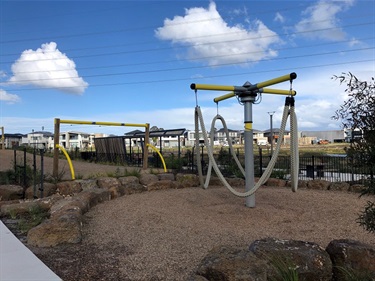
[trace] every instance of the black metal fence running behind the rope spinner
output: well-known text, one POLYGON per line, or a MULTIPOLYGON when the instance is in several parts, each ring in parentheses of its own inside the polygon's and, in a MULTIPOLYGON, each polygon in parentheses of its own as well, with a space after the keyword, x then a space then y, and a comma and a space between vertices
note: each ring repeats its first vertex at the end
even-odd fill
MULTIPOLYGON (((206 149, 201 147, 199 149, 201 155, 202 166, 204 170, 207 169, 209 158, 206 149)), ((168 169, 173 169, 178 172, 196 172, 196 153, 194 148, 182 149, 181 151, 161 151, 168 169)), ((142 167, 142 151, 130 154, 131 157, 126 161, 125 165, 142 167), (137 161, 134 161, 134 159, 137 161)), ((240 162, 245 162, 245 155, 243 150, 237 149, 236 155, 240 162)), ((94 159, 93 159, 94 158, 94 159)), ((99 161, 100 158, 91 161, 99 161)), ((242 174, 238 169, 233 157, 230 154, 229 148, 222 148, 220 151, 214 153, 214 158, 218 163, 221 172, 224 176, 241 177, 242 174)), ((260 177, 267 168, 271 156, 262 155, 262 153, 254 155, 254 174, 260 177)), ((162 161, 157 153, 150 153, 149 167, 162 168, 162 161)), ((123 163, 121 163, 123 164, 123 163)), ((290 178, 290 157, 278 156, 275 167, 272 172, 272 177, 280 179, 290 178)), ((299 179, 324 179, 327 181, 360 183, 369 177, 374 177, 375 168, 366 167, 360 161, 355 161, 346 155, 336 156, 301 156, 299 157, 299 179)))

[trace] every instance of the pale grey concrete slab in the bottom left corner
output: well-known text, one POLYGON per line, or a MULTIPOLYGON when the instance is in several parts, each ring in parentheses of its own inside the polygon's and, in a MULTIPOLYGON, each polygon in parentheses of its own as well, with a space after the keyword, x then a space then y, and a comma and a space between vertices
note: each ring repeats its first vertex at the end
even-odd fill
POLYGON ((0 221, 1 281, 61 281, 0 221))

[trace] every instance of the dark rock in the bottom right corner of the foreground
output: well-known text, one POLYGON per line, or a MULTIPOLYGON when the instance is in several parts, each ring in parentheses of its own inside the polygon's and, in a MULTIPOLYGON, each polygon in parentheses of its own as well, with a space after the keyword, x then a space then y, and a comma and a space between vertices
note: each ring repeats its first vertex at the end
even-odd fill
POLYGON ((357 276, 355 280, 375 280, 375 247, 341 239, 331 241, 326 251, 332 260, 334 280, 345 280, 348 273, 357 276))

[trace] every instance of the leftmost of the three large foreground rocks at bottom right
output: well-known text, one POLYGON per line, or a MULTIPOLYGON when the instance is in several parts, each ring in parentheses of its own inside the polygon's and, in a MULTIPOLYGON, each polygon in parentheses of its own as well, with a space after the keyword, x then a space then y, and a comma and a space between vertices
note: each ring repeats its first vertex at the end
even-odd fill
MULTIPOLYGON (((272 268, 245 248, 219 247, 211 250, 200 263, 196 275, 210 281, 266 281, 272 268)), ((194 278, 194 280, 199 280, 194 278)))

